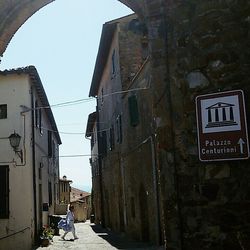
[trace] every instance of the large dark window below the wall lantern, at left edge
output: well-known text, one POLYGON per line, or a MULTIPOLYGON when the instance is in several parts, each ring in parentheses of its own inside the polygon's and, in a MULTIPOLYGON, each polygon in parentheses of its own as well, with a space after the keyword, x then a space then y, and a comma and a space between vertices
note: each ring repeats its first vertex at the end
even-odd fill
POLYGON ((0 218, 9 218, 9 166, 0 166, 0 218))

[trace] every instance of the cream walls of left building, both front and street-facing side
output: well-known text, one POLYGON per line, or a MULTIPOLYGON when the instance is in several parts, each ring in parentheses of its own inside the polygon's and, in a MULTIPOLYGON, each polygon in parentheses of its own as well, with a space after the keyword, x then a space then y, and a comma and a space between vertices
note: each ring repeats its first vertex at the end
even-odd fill
MULTIPOLYGON (((35 98, 38 98, 34 93, 35 98)), ((32 111, 21 114, 24 110, 20 105, 31 108, 31 83, 27 74, 0 75, 0 104, 7 104, 7 119, 0 119, 0 167, 8 165, 10 188, 10 216, 9 219, 0 219, 0 250, 16 250, 22 246, 23 250, 31 249, 34 242, 34 193, 33 193, 33 164, 32 164, 32 111), (14 153, 8 137, 13 132, 22 139, 20 148, 24 153, 24 162, 14 153), (23 232, 18 233, 19 231, 23 232), (15 234, 16 233, 16 234, 15 234), (15 234, 10 236, 11 234, 15 234), (1 239, 5 236, 10 236, 1 239)), ((37 197, 37 224, 48 224, 48 215, 54 214, 58 191, 55 184, 59 178, 59 148, 56 147, 56 157, 48 156, 48 130, 50 121, 43 111, 43 134, 35 128, 35 155, 36 155, 36 197, 37 197), (41 163, 41 164, 40 164, 41 163), (39 178, 39 167, 41 178, 39 178), (42 203, 49 202, 48 182, 52 185, 52 206, 48 212, 40 212, 42 203), (42 185, 42 197, 39 197, 39 185, 42 185), (41 215, 41 216, 40 216, 41 215), (40 220, 40 217, 42 220, 40 220)), ((53 140, 56 141, 55 137, 53 140)), ((57 145, 57 143, 56 143, 57 145)), ((38 228, 39 228, 38 227, 38 228)))

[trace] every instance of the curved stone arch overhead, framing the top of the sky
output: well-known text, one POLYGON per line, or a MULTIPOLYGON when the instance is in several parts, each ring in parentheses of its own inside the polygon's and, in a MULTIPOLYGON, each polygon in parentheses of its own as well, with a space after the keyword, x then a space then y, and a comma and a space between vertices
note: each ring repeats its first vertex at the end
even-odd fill
MULTIPOLYGON (((0 0, 0 56, 3 55, 16 31, 35 12, 54 0, 0 0)), ((140 13, 141 0, 118 0, 140 13)))

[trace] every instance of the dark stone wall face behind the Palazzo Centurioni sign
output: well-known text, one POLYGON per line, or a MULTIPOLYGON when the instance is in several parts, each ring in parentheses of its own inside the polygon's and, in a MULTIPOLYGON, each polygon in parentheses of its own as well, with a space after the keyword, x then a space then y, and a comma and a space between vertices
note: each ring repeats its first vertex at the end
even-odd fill
POLYGON ((186 249, 249 247, 249 241, 244 242, 250 229, 249 160, 200 163, 194 129, 197 94, 243 89, 249 96, 249 14, 249 1, 190 1, 168 13, 172 119, 186 249))

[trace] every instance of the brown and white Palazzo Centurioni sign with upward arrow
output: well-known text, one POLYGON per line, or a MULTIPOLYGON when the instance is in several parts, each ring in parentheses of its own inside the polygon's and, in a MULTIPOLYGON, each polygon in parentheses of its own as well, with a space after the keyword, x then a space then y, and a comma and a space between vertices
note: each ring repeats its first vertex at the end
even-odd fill
POLYGON ((249 158, 242 90, 197 96, 196 117, 201 161, 249 158))

